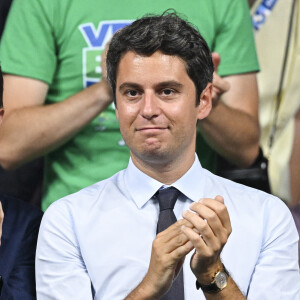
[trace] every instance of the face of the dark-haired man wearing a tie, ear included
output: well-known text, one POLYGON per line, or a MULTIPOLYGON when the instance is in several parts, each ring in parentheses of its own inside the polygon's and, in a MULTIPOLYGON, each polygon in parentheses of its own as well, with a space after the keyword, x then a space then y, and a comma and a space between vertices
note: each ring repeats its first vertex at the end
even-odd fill
POLYGON ((211 85, 196 106, 195 85, 183 60, 161 52, 146 57, 130 51, 119 63, 116 101, 120 130, 133 160, 168 163, 194 155, 196 123, 210 111, 211 85))

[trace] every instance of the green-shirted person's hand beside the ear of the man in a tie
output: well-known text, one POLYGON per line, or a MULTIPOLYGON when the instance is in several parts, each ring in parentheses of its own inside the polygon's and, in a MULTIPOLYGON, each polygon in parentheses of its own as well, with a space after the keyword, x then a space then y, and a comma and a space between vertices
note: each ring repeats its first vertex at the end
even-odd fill
POLYGON ((218 67, 221 61, 221 57, 219 53, 213 52, 212 60, 215 67, 215 71, 213 75, 214 79, 213 79, 213 94, 212 94, 213 107, 214 107, 218 104, 221 95, 230 89, 230 84, 217 74, 218 67))

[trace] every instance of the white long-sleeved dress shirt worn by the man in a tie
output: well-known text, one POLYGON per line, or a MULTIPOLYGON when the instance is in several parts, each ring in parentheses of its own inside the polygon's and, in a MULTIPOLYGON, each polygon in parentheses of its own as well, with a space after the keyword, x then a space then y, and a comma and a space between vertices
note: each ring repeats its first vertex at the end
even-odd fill
MULTIPOLYGON (((38 299, 124 299, 148 270, 159 215, 151 197, 161 186, 130 161, 113 177, 53 203, 38 239, 38 299)), ((281 200, 211 174, 197 157, 172 186, 183 194, 177 219, 193 201, 224 197, 232 234, 221 258, 247 299, 300 299, 298 233, 281 200)), ((184 263, 185 300, 201 300, 192 252, 184 263)))

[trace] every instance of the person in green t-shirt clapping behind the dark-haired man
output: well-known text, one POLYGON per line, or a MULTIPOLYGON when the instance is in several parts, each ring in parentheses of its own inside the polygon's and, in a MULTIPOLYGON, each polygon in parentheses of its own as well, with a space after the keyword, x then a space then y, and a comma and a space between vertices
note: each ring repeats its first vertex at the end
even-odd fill
POLYGON ((100 55, 121 27, 170 7, 201 28, 226 76, 215 76, 213 112, 199 125, 201 162, 213 171, 214 151, 235 164, 254 161, 258 63, 246 0, 16 0, 0 47, 7 113, 0 164, 9 169, 46 155, 44 210, 127 166, 110 88, 98 82, 100 55))

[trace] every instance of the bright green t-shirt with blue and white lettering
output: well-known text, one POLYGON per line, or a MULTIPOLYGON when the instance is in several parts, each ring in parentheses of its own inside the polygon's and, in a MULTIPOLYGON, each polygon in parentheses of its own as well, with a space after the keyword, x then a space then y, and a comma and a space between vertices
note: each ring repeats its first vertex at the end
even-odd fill
MULTIPOLYGON (((195 24, 220 53, 221 75, 258 70, 246 0, 14 0, 1 41, 2 69, 46 82, 46 104, 63 101, 101 78, 101 53, 115 31, 168 8, 195 24)), ((197 153, 213 171, 215 154, 199 134, 197 153)), ((125 168, 128 159, 111 105, 46 156, 43 209, 125 168)))

